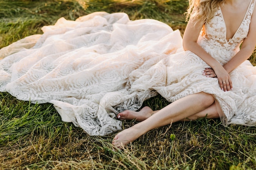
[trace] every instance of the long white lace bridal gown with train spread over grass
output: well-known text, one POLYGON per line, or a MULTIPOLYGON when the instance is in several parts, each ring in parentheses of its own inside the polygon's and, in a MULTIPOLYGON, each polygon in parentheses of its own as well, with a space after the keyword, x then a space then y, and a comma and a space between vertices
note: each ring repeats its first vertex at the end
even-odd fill
MULTIPOLYGON (((229 41, 220 10, 202 31, 198 43, 221 64, 247 36, 253 1, 229 41)), ((182 49, 180 32, 162 22, 97 12, 42 29, 0 49, 0 91, 52 103, 63 121, 89 135, 121 130, 117 113, 137 110, 157 93, 173 102, 204 91, 216 98, 225 126, 256 125, 256 67, 249 61, 230 73, 233 90, 224 92, 218 79, 202 75, 209 66, 182 49)))

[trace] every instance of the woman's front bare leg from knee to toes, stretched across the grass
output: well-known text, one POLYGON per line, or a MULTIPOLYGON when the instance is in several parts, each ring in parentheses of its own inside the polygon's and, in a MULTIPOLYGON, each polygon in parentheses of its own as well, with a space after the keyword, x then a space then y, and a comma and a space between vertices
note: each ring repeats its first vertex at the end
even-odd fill
MULTIPOLYGON (((149 130, 171 124, 172 122, 185 120, 187 117, 202 112, 213 103, 213 96, 204 92, 178 99, 148 117, 148 119, 119 132, 113 139, 112 144, 114 148, 120 149, 122 146, 129 144, 149 130)), ((198 116, 201 116, 201 114, 198 116)), ((205 117, 205 115, 203 117, 205 117)))

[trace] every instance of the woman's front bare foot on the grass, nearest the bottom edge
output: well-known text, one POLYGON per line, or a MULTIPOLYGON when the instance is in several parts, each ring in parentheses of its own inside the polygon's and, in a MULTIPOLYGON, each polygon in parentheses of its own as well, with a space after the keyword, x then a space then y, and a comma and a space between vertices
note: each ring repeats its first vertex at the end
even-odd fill
POLYGON ((119 132, 113 139, 112 145, 114 150, 124 149, 124 146, 136 140, 140 135, 139 131, 134 127, 130 127, 119 132))

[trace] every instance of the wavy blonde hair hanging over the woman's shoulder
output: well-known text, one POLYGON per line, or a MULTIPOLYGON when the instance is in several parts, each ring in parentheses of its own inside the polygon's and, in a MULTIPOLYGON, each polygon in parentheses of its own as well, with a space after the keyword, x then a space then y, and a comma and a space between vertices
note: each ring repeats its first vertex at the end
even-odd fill
POLYGON ((205 24, 213 18, 220 4, 225 0, 189 0, 189 7, 186 14, 186 21, 195 19, 195 24, 205 24))

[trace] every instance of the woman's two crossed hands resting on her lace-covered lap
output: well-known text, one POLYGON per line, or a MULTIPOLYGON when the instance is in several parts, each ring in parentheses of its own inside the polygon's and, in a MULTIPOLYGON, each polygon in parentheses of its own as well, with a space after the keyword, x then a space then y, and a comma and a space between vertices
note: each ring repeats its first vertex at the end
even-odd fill
POLYGON ((205 68, 203 75, 206 77, 218 78, 222 91, 231 91, 233 87, 229 73, 227 73, 223 67, 217 70, 218 71, 215 72, 212 68, 205 68))

